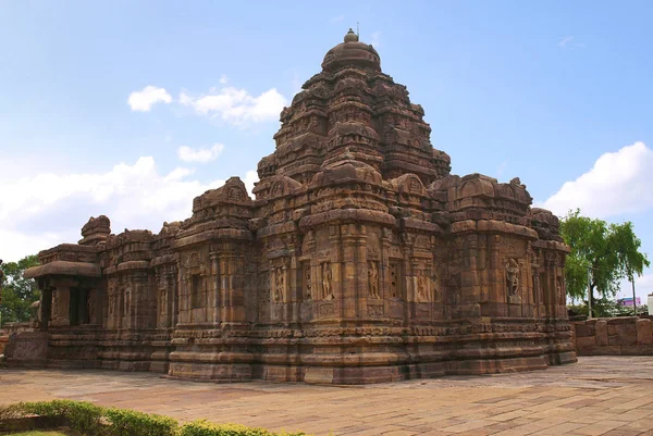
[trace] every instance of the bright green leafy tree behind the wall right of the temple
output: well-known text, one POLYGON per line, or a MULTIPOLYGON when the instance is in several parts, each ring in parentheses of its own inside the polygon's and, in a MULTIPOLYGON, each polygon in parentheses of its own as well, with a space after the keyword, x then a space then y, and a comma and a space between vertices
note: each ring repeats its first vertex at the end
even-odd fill
POLYGON ((614 299, 623 278, 632 281, 650 265, 646 254, 639 251, 641 240, 630 222, 607 224, 582 216, 577 209, 560 221, 560 234, 571 247, 565 265, 567 294, 583 300, 589 279, 593 307, 594 291, 602 299, 614 299))

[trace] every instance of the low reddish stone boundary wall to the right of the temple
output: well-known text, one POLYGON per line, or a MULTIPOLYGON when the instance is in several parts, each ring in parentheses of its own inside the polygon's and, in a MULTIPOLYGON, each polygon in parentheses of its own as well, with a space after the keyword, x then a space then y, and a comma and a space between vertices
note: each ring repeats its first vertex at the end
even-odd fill
POLYGON ((602 317, 577 321, 578 356, 653 356, 653 317, 602 317))

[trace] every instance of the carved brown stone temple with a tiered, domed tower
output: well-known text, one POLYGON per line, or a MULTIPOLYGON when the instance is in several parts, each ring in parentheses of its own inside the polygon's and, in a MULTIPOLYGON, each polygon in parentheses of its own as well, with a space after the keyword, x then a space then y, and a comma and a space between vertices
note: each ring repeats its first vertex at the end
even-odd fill
POLYGON ((250 198, 41 251, 9 364, 361 384, 576 361, 558 220, 518 178, 452 175, 424 111, 349 32, 281 112, 250 198))

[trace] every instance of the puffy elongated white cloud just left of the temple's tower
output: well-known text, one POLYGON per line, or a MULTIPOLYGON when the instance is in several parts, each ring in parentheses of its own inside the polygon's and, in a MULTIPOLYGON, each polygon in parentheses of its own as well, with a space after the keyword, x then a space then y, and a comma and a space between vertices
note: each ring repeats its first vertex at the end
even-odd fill
POLYGON ((209 95, 194 98, 186 92, 180 95, 180 102, 189 105, 201 115, 219 117, 234 125, 279 120, 279 114, 287 100, 276 88, 252 97, 245 89, 225 87, 211 90, 209 95))

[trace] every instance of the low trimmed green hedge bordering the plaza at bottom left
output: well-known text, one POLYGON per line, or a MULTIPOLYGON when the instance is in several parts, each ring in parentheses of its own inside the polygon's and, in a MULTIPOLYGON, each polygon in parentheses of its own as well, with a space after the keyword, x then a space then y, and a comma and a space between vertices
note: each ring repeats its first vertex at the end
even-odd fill
POLYGON ((53 400, 0 407, 3 420, 37 415, 64 421, 85 436, 305 436, 305 433, 271 433, 238 424, 196 421, 180 426, 169 416, 126 409, 108 409, 84 401, 53 400))

